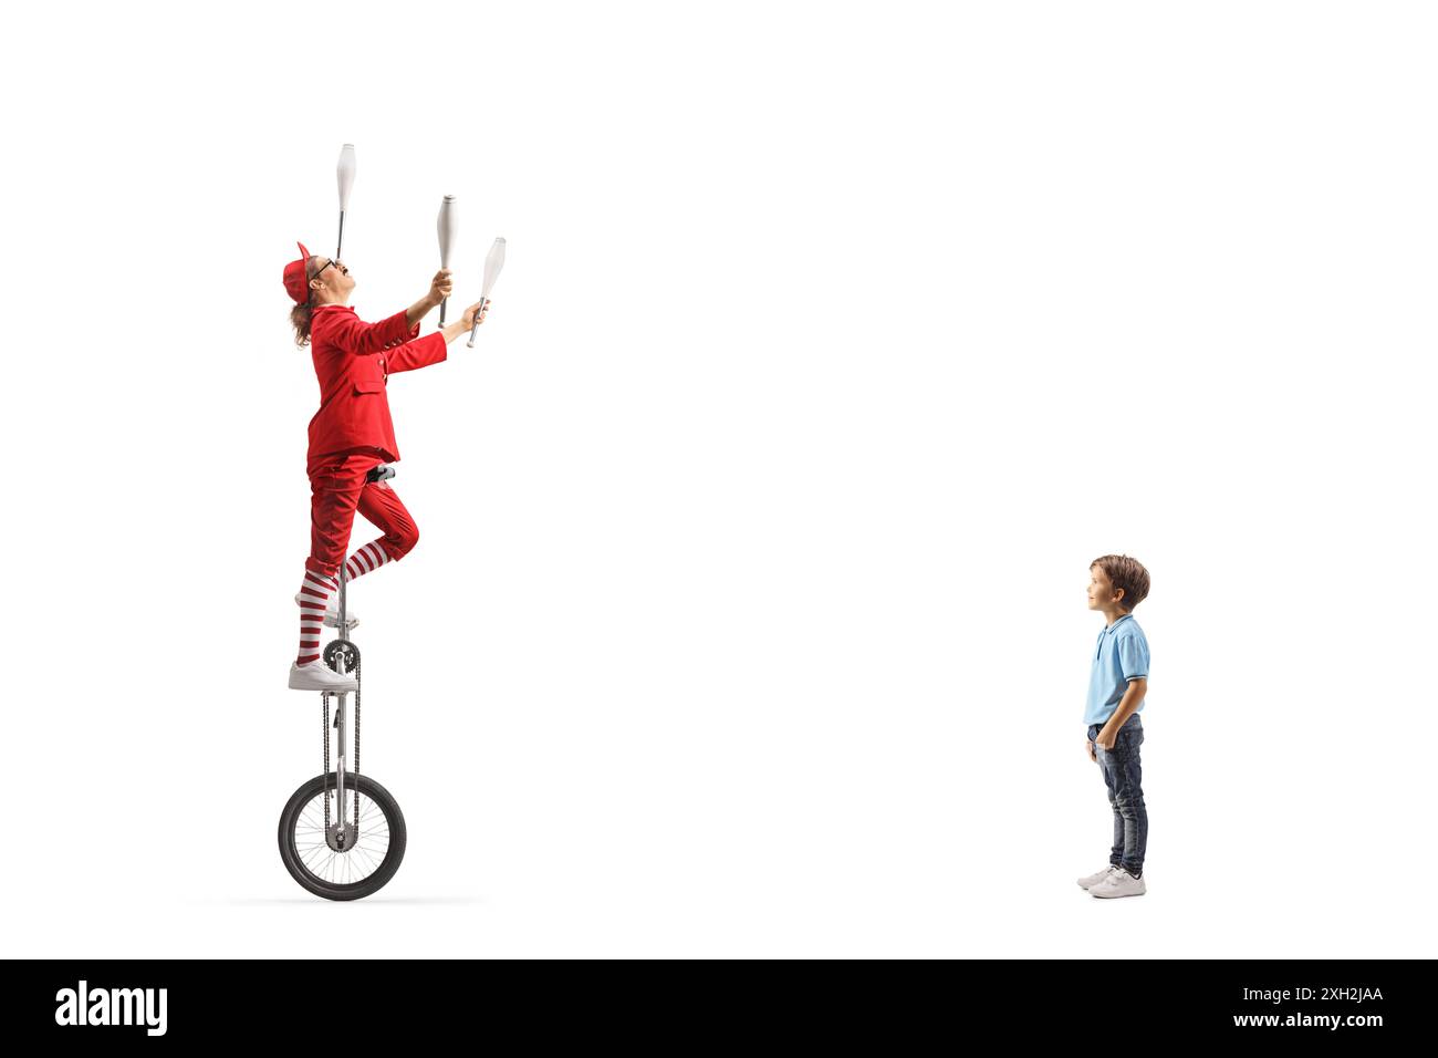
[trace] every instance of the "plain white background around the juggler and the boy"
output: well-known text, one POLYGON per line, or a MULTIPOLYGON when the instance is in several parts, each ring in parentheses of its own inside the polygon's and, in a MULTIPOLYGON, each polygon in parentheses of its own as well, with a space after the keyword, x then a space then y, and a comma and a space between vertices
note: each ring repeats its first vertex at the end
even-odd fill
POLYGON ((36 10, 7 954, 1435 954, 1431 9, 36 10), (275 838, 319 767, 280 271, 342 143, 361 318, 443 194, 463 297, 509 240, 388 390, 421 537, 351 602, 410 848, 355 904, 275 838), (1109 551, 1153 579, 1117 901, 1109 551))

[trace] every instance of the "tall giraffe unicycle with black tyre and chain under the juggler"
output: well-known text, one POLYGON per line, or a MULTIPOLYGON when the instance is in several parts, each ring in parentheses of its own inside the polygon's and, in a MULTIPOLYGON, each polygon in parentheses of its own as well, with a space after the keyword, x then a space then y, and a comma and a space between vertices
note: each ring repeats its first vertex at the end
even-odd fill
MULTIPOLYGON (((380 464, 370 481, 394 476, 380 464)), ((324 651, 325 664, 355 679, 355 766, 345 767, 348 691, 321 691, 324 770, 290 796, 279 816, 279 855, 303 888, 326 900, 358 900, 378 891, 404 859, 404 813, 380 783, 360 774, 360 648, 345 615, 345 564, 339 564, 339 638, 324 651), (335 733, 331 761, 329 731, 335 733)))

